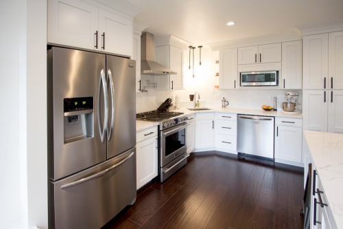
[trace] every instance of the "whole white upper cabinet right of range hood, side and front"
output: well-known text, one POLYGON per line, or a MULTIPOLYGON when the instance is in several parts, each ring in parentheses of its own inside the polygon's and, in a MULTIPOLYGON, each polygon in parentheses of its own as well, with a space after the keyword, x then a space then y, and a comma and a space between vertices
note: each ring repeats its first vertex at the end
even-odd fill
POLYGON ((183 50, 172 45, 156 47, 156 62, 176 72, 174 75, 156 76, 156 90, 182 90, 183 50))

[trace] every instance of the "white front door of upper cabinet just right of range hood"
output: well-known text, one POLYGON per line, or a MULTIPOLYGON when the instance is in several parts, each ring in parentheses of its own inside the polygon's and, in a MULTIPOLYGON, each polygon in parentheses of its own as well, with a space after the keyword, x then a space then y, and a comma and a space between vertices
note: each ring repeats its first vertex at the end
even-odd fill
POLYGON ((183 50, 179 47, 170 46, 169 48, 169 68, 176 72, 176 75, 170 75, 170 89, 183 89, 183 50))

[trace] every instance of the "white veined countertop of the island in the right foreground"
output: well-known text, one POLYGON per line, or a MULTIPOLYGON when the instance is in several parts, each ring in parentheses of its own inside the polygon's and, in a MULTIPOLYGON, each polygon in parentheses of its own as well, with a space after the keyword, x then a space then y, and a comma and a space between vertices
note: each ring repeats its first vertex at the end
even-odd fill
POLYGON ((304 131, 338 228, 343 228, 343 134, 304 131))

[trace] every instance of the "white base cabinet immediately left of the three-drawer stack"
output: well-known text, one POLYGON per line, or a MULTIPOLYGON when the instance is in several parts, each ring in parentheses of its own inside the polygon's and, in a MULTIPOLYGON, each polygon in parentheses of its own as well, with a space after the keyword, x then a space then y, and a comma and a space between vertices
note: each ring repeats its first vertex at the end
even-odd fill
POLYGON ((214 113, 196 113, 196 149, 214 147, 214 113))

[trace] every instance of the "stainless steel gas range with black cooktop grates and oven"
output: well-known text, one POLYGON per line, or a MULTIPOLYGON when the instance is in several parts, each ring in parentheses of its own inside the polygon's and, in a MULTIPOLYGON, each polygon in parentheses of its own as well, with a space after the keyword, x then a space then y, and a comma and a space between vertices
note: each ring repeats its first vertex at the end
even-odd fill
POLYGON ((137 113, 137 120, 158 122, 158 179, 164 182, 187 164, 187 116, 180 112, 137 113))

